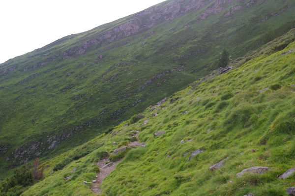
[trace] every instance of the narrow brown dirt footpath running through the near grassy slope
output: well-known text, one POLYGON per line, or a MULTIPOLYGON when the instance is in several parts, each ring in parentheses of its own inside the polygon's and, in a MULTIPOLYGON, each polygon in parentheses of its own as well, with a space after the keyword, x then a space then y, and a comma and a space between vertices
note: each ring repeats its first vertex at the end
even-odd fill
MULTIPOLYGON (((136 138, 138 138, 138 134, 139 132, 137 132, 134 136, 136 138)), ((138 142, 138 141, 132 141, 130 143, 128 143, 128 146, 145 146, 144 145, 145 142, 138 142)), ((90 189, 92 190, 92 192, 96 195, 100 195, 101 194, 101 183, 103 181, 103 179, 105 179, 105 177, 107 177, 118 165, 118 163, 120 163, 121 161, 117 161, 117 162, 111 162, 106 164, 109 161, 108 158, 102 159, 99 162, 96 163, 96 165, 99 167, 99 173, 97 173, 97 177, 95 177, 96 182, 93 182, 93 184, 90 186, 90 189)))

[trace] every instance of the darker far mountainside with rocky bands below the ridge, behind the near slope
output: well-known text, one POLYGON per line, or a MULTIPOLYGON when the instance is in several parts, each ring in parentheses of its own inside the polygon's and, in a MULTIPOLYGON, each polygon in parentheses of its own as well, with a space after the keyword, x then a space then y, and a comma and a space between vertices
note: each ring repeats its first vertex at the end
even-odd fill
POLYGON ((0 176, 107 132, 294 18, 293 0, 168 0, 0 64, 0 176))

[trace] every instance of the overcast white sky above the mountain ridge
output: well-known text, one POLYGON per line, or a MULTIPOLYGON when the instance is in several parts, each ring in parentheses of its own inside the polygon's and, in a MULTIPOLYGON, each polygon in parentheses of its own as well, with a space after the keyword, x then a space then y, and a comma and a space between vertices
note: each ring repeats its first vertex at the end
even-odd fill
POLYGON ((164 0, 0 0, 0 63, 164 0))

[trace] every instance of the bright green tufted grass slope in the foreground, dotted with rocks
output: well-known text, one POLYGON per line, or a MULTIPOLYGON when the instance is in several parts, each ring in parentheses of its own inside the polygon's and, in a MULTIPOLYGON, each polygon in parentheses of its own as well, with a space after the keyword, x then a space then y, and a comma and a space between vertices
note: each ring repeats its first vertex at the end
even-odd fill
POLYGON ((288 44, 294 36, 292 29, 246 55, 255 58, 236 60, 233 65, 239 66, 228 73, 213 72, 148 107, 138 122, 122 122, 111 133, 45 162, 47 177, 23 196, 93 195, 91 183, 83 181, 95 179, 100 152, 111 154, 126 145, 133 130, 140 131, 146 147, 127 152, 103 181, 104 195, 287 196, 295 175, 278 177, 295 164, 295 42, 288 44), (155 136, 158 131, 166 133, 155 136), (90 153, 50 173, 82 149, 90 153), (201 153, 188 161, 197 149, 201 153), (222 160, 220 169, 209 169, 222 160), (236 176, 254 166, 273 169, 236 176))

